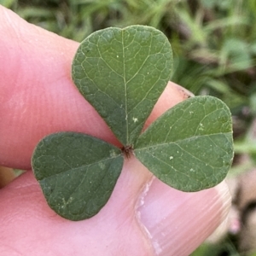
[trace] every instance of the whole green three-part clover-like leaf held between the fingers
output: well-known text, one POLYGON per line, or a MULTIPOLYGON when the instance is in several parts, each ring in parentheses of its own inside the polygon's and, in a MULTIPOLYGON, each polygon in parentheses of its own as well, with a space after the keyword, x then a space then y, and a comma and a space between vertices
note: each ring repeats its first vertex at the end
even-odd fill
POLYGON ((124 155, 132 153, 161 181, 183 191, 207 189, 224 179, 233 158, 231 117, 224 102, 190 98, 140 135, 171 69, 171 45, 153 27, 111 27, 80 44, 73 81, 123 148, 73 132, 38 143, 33 172, 56 213, 71 220, 94 216, 112 194, 124 155))

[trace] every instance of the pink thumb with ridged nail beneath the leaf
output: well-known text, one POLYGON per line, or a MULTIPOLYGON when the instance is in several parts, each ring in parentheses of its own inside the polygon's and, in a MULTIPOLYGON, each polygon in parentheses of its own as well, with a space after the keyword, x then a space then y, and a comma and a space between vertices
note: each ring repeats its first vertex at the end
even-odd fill
POLYGON ((151 178, 129 160, 101 212, 72 222, 48 207, 26 172, 0 190, 1 255, 189 255, 224 218, 227 187, 183 193, 151 178))

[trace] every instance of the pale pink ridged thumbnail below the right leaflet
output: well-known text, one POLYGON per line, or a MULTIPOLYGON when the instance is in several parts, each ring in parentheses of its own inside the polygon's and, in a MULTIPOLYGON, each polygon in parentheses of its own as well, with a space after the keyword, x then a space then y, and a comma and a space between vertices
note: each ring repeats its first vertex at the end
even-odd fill
POLYGON ((213 189, 185 193, 154 178, 138 201, 137 218, 155 255, 189 255, 230 209, 225 183, 213 189))

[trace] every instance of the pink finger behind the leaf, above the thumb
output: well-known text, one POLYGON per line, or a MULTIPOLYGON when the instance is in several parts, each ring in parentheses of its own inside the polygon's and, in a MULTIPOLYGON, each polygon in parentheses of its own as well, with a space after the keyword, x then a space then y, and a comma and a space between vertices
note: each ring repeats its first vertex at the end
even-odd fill
MULTIPOLYGON (((30 168, 33 148, 55 131, 80 131, 118 144, 71 80, 78 43, 1 6, 0 38, 0 165, 30 168)), ((169 83, 149 121, 187 96, 169 83)))

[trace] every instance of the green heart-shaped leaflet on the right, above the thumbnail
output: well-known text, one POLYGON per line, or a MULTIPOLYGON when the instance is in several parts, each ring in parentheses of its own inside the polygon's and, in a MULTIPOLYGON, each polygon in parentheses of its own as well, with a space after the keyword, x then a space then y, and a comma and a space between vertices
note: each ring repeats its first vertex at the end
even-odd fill
POLYGON ((211 188, 224 179, 233 159, 230 110, 212 96, 181 102, 143 132, 134 154, 175 189, 211 188))

